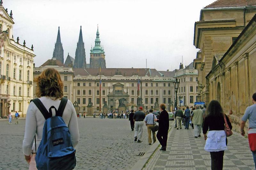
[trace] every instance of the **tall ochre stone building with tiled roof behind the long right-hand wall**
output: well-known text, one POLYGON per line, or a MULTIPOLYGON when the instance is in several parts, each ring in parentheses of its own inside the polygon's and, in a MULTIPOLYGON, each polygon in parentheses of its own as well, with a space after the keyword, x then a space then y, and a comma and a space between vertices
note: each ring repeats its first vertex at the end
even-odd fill
POLYGON ((214 56, 223 55, 256 13, 256 1, 217 0, 200 12, 195 23, 194 45, 199 48, 194 67, 198 70, 201 101, 210 101, 206 75, 212 69, 214 56))

